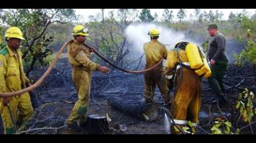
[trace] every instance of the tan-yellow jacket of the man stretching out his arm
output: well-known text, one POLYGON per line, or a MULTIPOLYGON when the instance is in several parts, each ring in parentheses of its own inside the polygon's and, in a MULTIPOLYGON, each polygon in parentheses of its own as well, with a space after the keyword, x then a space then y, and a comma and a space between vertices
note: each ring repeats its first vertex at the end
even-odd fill
POLYGON ((89 50, 76 40, 69 44, 67 53, 72 67, 84 67, 86 71, 98 70, 99 64, 90 60, 89 50))

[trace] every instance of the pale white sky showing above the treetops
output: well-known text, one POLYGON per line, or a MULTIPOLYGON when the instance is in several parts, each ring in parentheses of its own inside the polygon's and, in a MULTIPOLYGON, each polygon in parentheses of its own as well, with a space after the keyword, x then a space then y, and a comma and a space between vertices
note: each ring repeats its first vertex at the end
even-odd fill
MULTIPOLYGON (((81 21, 79 22, 88 22, 89 16, 96 16, 98 13, 101 13, 101 9, 75 9, 75 10, 76 10, 76 14, 81 15, 81 21)), ((105 9, 105 15, 107 16, 108 13, 112 10, 114 10, 114 14, 116 15, 118 9, 105 9)), ((179 9, 170 9, 170 10, 174 11, 174 16, 176 18, 177 12, 179 11, 179 9)), ((209 12, 210 10, 212 10, 213 12, 218 10, 219 12, 222 12, 224 14, 222 19, 228 19, 231 11, 234 14, 237 14, 238 12, 242 12, 243 9, 201 9, 201 12, 203 11, 209 12)), ((250 16, 252 16, 256 12, 256 9, 246 9, 246 10, 247 12, 249 12, 250 16)), ((164 9, 150 9, 151 15, 154 16, 154 14, 157 13, 159 19, 160 17, 162 17, 163 11, 164 9)), ((194 14, 194 9, 185 9, 185 11, 187 13, 187 19, 189 19, 190 14, 194 14)))

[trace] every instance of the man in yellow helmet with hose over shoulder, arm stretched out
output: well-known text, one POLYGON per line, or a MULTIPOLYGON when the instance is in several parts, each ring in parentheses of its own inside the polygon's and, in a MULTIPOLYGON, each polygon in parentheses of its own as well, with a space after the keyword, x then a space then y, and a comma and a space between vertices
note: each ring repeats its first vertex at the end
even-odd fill
POLYGON ((90 51, 83 45, 86 36, 89 35, 86 27, 77 25, 72 34, 74 40, 68 45, 67 51, 73 69, 72 80, 77 90, 78 101, 67 119, 67 126, 71 129, 79 129, 79 126, 86 121, 91 90, 91 71, 99 70, 102 73, 107 73, 109 68, 102 67, 90 60, 90 51))

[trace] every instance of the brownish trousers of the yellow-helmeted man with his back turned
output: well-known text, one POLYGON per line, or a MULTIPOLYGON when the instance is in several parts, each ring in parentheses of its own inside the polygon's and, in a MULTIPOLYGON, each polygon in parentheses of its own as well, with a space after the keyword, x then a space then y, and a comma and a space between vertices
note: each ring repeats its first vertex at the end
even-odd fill
POLYGON ((162 76, 165 76, 164 69, 162 67, 157 67, 152 71, 145 73, 145 101, 150 103, 153 101, 154 93, 155 93, 155 86, 157 85, 162 97, 165 100, 166 104, 170 103, 170 96, 169 96, 169 81, 166 78, 163 78, 161 83, 162 76))

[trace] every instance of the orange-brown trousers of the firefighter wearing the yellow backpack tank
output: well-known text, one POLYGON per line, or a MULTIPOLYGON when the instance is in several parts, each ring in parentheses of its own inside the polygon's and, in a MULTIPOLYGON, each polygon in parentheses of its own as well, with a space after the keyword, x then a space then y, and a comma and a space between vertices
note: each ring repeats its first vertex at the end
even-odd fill
MULTIPOLYGON (((175 86, 179 85, 180 80, 179 68, 175 78, 175 86)), ((174 93, 170 109, 172 118, 177 126, 186 126, 188 121, 196 126, 201 104, 201 85, 202 81, 194 70, 182 68, 182 80, 179 88, 174 93)), ((193 130, 195 131, 195 129, 193 130)), ((180 131, 175 129, 173 122, 171 132, 172 134, 180 134, 180 131)))

